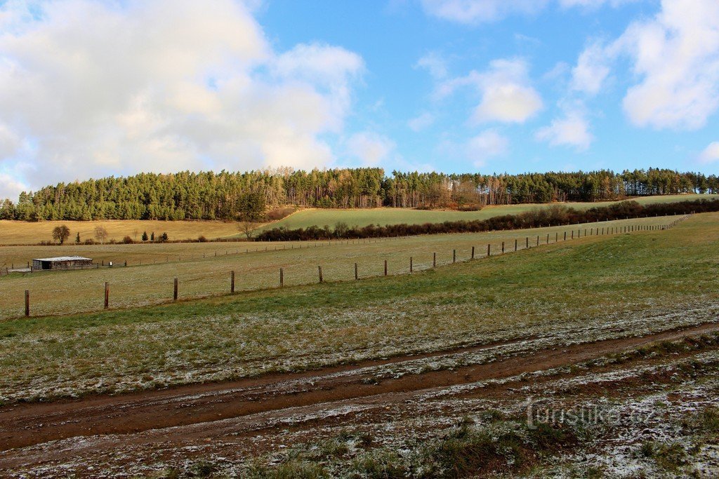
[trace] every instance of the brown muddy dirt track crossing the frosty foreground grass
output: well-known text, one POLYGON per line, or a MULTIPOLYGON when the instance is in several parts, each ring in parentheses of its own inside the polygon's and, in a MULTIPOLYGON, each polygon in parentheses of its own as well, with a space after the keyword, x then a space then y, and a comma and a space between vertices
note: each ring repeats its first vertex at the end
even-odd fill
MULTIPOLYGON (((489 348, 446 350, 427 355, 367 361, 354 366, 326 368, 308 373, 288 373, 226 383, 198 384, 122 396, 95 396, 78 401, 19 404, 0 409, 0 451, 39 445, 51 440, 104 434, 132 434, 151 429, 180 427, 183 437, 191 424, 217 422, 267 411, 324 404, 332 401, 363 402, 370 396, 405 396, 416 391, 506 378, 580 363, 610 353, 661 340, 719 331, 718 322, 680 330, 668 330, 638 338, 620 338, 565 348, 534 350, 498 358, 492 363, 462 366, 453 371, 429 371, 376 379, 361 371, 378 364, 402 363, 421 357, 446 356, 489 348), (347 374, 349 372, 350 374, 347 374), (354 372, 354 373, 353 373, 354 372)), ((391 401, 388 401, 391 402, 391 401)), ((173 429, 165 429, 165 431, 173 429)), ((166 434, 163 434, 167 438, 166 434)))

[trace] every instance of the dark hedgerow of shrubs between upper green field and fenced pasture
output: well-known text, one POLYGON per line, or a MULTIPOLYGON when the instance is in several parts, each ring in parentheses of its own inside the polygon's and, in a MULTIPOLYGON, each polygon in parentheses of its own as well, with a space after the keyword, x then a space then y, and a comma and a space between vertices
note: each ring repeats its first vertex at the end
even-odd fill
POLYGON ((421 225, 367 225, 348 227, 346 223, 337 223, 333 228, 310 226, 290 230, 273 228, 260 233, 256 241, 317 241, 332 239, 393 238, 398 236, 416 236, 439 233, 481 233, 483 231, 503 231, 544 226, 572 225, 577 223, 595 223, 597 221, 624 220, 650 216, 685 215, 689 213, 708 213, 719 211, 719 200, 695 200, 677 203, 653 203, 641 205, 636 201, 623 201, 609 206, 576 210, 565 205, 551 205, 536 208, 518 215, 502 215, 486 220, 445 221, 444 223, 425 223, 421 225))

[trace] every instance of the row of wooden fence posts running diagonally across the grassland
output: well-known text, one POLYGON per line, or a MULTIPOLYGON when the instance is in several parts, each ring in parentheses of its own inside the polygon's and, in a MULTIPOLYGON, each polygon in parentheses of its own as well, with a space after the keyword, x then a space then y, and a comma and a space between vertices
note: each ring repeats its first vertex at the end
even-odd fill
MULTIPOLYGON (((617 234, 631 234, 631 233, 638 232, 638 231, 667 231, 670 228, 673 228, 677 224, 681 223, 682 221, 687 220, 687 218, 690 218, 690 216, 691 215, 682 215, 679 218, 672 220, 669 223, 664 224, 664 225, 624 225, 624 226, 613 226, 611 228, 603 227, 601 229, 598 226, 596 228, 594 228, 594 227, 588 228, 588 229, 585 228, 585 230, 584 230, 585 236, 584 237, 586 238, 587 236, 607 236, 607 235, 613 236, 613 235, 617 235, 617 234), (587 233, 587 231, 589 231, 589 233, 587 233)), ((572 233, 571 238, 573 239, 574 238, 574 229, 572 229, 571 233, 572 233)), ((577 238, 582 237, 581 233, 582 233, 582 228, 577 228, 577 238)), ((529 236, 526 236, 525 238, 526 238, 525 239, 526 247, 522 248, 521 250, 518 249, 518 239, 515 239, 514 251, 523 251, 526 249, 537 248, 540 246, 539 236, 536 237, 537 238, 536 246, 529 246, 529 236)), ((549 236, 549 234, 547 234, 546 243, 545 243, 547 245, 550 244, 549 238, 550 238, 550 236, 549 236)), ((564 231, 564 240, 562 240, 562 241, 559 241, 559 233, 558 232, 555 233, 554 244, 557 244, 560 242, 563 243, 564 241, 567 241, 567 232, 566 231, 564 231)), ((492 243, 487 243, 487 258, 489 258, 490 256, 501 256, 503 254, 508 254, 508 252, 505 251, 505 241, 502 241, 501 246, 497 245, 496 248, 500 248, 500 252, 492 254, 492 243)), ((475 246, 472 246, 472 252, 470 254, 470 257, 468 259, 464 259, 464 261, 459 260, 459 262, 467 262, 467 261, 474 261, 474 260, 475 260, 475 246)), ((454 248, 454 249, 452 249, 452 263, 450 263, 450 264, 456 264, 456 263, 457 263, 457 249, 454 248)), ((432 266, 429 269, 434 269, 434 268, 436 268, 436 266, 437 266, 437 254, 436 254, 436 252, 434 252, 432 254, 432 266)), ((449 264, 445 264, 445 266, 449 266, 449 264)), ((324 275, 322 272, 321 265, 317 266, 317 271, 318 271, 318 276, 319 276, 319 283, 322 284, 325 282, 325 280, 324 280, 324 275)), ((414 271, 413 256, 410 256, 409 257, 408 274, 412 274, 413 271, 414 271)), ((403 273, 400 272, 399 274, 395 274, 395 276, 402 275, 402 274, 403 273)), ((405 273, 405 274, 407 274, 407 273, 405 273)), ((387 259, 384 260, 383 276, 388 276, 388 260, 387 259)), ((365 276, 365 279, 376 278, 376 277, 379 277, 379 276, 365 276)), ((357 263, 354 263, 354 279, 355 280, 360 279, 359 264, 357 264, 357 263)), ((342 281, 342 280, 337 280, 337 282, 340 282, 340 281, 342 281)), ((284 269, 280 268, 279 287, 284 287, 284 284, 285 284, 284 269)), ((178 279, 178 277, 175 277, 174 282, 173 282, 173 299, 172 299, 173 302, 178 301, 178 296, 179 296, 178 287, 179 287, 179 279, 178 279)), ((229 290, 230 290, 229 294, 235 293, 235 271, 234 270, 230 271, 229 290)), ((249 291, 263 291, 263 290, 267 290, 267 288, 251 289, 249 291)), ((109 294, 110 294, 109 292, 110 292, 110 285, 108 282, 106 282, 105 288, 104 288, 104 309, 105 310, 109 309, 109 294)), ((220 294, 220 295, 222 295, 222 294, 220 294)), ((206 297, 206 296, 203 296, 203 297, 206 297)), ((191 298, 188 298, 188 299, 191 299, 191 298)), ((30 291, 29 291, 29 289, 26 289, 24 292, 24 315, 26 317, 30 316, 30 291)))

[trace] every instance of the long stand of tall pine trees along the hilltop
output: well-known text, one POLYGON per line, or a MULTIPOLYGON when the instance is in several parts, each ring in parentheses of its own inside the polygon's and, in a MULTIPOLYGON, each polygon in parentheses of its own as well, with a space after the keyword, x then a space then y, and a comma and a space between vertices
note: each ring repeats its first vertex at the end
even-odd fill
POLYGON ((141 173, 46 186, 0 203, 9 220, 258 220, 283 205, 311 208, 454 208, 594 202, 646 195, 718 193, 716 175, 640 169, 521 175, 290 168, 252 172, 141 173))

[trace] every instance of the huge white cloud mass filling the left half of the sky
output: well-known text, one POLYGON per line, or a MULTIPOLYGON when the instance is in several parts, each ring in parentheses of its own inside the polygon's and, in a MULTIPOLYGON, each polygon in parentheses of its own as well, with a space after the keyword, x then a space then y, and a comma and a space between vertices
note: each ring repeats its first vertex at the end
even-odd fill
POLYGON ((275 52, 234 0, 33 5, 39 15, 0 6, 0 164, 22 160, 55 182, 334 158, 321 137, 342 131, 359 55, 275 52), (6 138, 32 154, 12 157, 6 138))

